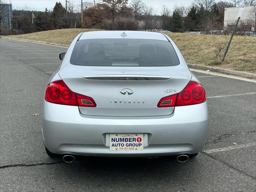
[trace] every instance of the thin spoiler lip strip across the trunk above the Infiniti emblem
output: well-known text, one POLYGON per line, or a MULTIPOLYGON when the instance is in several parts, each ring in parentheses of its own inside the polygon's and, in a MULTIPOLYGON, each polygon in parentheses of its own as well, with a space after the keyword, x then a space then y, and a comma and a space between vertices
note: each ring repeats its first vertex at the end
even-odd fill
POLYGON ((156 76, 156 75, 94 75, 82 76, 89 80, 130 80, 130 81, 146 81, 146 80, 168 80, 170 76, 156 76))

